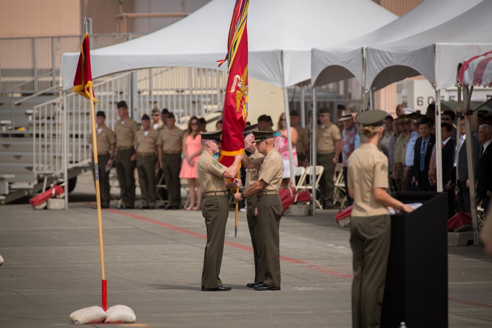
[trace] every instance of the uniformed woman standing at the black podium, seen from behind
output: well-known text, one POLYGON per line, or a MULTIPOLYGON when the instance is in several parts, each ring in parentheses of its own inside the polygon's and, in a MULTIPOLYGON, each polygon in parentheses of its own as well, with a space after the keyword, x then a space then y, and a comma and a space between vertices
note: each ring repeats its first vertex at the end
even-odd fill
POLYGON ((412 211, 387 193, 388 158, 377 149, 385 117, 386 112, 380 110, 357 115, 366 142, 348 158, 348 192, 354 198, 350 220, 354 328, 380 327, 391 238, 388 206, 412 211))

